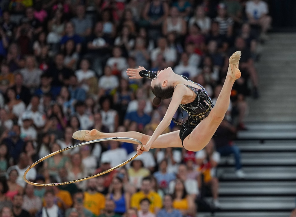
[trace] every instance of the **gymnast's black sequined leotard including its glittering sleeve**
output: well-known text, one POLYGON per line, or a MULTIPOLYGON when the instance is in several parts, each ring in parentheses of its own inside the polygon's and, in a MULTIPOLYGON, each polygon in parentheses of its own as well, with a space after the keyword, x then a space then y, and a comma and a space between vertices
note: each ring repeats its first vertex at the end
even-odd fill
MULTIPOLYGON (((157 72, 142 70, 139 74, 142 77, 155 78, 155 76, 157 75, 157 72)), ((182 76, 182 77, 185 78, 187 81, 191 81, 189 80, 189 78, 185 76, 182 76)), ((189 114, 188 120, 180 124, 180 122, 178 123, 178 121, 173 119, 173 121, 176 124, 181 125, 179 136, 182 141, 182 145, 183 145, 184 139, 189 134, 191 134, 193 129, 210 114, 210 111, 214 107, 213 102, 210 99, 209 95, 207 94, 207 91, 205 90, 205 88, 198 83, 195 83, 193 81, 191 82, 198 85, 200 88, 196 88, 187 84, 182 84, 188 87, 189 89, 191 89, 196 94, 196 97, 193 102, 180 104, 180 107, 189 114)))

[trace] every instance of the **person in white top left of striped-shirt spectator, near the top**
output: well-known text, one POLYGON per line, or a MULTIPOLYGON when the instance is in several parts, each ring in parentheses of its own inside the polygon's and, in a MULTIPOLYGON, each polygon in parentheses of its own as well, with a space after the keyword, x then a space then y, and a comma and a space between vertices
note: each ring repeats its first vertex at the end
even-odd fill
POLYGON ((211 28, 211 19, 206 15, 205 7, 199 5, 194 11, 194 15, 189 19, 189 28, 193 24, 197 24, 200 27, 201 33, 207 35, 211 28))

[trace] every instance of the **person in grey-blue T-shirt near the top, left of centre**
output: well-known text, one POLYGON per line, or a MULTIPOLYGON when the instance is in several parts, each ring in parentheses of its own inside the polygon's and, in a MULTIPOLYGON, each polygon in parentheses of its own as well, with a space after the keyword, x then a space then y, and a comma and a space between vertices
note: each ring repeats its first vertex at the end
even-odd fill
POLYGON ((75 34, 84 41, 91 34, 91 19, 85 16, 85 6, 83 4, 79 4, 75 9, 76 16, 71 19, 71 22, 75 26, 75 34))

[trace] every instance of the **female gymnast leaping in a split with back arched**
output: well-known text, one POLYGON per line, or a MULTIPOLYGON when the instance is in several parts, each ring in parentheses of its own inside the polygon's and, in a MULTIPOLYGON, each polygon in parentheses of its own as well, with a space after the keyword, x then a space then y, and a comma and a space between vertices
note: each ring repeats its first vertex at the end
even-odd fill
MULTIPOLYGON (((161 99, 172 97, 163 120, 159 123, 152 136, 139 132, 102 133, 93 129, 76 131, 74 139, 94 140, 109 137, 129 137, 141 141, 144 145, 137 148, 137 154, 149 151, 150 148, 184 147, 190 151, 202 150, 214 135, 220 125, 230 103, 230 93, 236 79, 241 76, 238 69, 241 52, 237 51, 229 58, 229 67, 223 88, 216 101, 215 107, 205 89, 184 76, 177 75, 171 67, 152 72, 144 67, 128 69, 129 78, 151 78, 152 92, 155 94, 154 103, 161 99), (170 122, 178 107, 188 112, 189 117, 182 123, 180 130, 167 134, 163 131, 170 122), (161 135, 162 134, 162 135, 161 135)), ((120 141, 120 139, 118 139, 120 141)))

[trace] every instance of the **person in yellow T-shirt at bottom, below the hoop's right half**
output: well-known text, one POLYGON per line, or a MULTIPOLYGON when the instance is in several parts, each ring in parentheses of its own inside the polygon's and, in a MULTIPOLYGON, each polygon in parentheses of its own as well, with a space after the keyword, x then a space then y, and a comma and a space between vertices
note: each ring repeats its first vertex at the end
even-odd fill
POLYGON ((96 178, 88 180, 87 190, 84 192, 84 208, 95 216, 99 216, 101 210, 105 208, 105 197, 96 190, 96 178))

